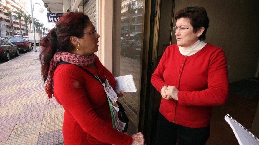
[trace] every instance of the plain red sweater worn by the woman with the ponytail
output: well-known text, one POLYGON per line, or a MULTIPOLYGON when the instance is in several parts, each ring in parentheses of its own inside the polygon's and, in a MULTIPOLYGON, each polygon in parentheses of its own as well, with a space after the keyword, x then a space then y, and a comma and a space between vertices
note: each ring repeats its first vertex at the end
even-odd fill
MULTIPOLYGON (((97 69, 84 67, 115 87, 112 74, 95 57, 97 69)), ((73 64, 61 64, 54 72, 54 96, 65 110, 65 145, 130 145, 132 137, 112 127, 107 95, 102 84, 73 64)))

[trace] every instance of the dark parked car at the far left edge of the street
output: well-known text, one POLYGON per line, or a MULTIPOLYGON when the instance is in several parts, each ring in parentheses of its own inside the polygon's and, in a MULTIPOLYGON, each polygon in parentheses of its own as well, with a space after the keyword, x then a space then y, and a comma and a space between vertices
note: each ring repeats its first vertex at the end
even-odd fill
POLYGON ((19 55, 17 46, 5 38, 0 38, 0 58, 4 61, 10 60, 10 55, 19 55))

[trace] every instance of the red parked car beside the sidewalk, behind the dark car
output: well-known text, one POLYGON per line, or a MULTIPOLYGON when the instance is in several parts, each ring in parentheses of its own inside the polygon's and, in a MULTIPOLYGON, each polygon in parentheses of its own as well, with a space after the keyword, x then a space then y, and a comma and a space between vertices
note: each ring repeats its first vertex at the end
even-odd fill
POLYGON ((21 37, 13 37, 10 39, 10 41, 16 45, 18 47, 18 50, 19 51, 30 51, 32 50, 32 46, 31 46, 31 43, 29 42, 29 40, 27 40, 26 38, 21 38, 21 37))

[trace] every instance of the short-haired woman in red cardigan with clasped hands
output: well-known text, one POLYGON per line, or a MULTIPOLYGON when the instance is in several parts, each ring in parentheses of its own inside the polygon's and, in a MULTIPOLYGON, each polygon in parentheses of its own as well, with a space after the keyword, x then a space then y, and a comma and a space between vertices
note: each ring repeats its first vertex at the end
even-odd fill
POLYGON ((228 98, 227 61, 221 48, 203 41, 209 26, 205 8, 183 8, 175 20, 177 44, 167 47, 151 78, 162 96, 156 144, 205 144, 212 106, 228 98))

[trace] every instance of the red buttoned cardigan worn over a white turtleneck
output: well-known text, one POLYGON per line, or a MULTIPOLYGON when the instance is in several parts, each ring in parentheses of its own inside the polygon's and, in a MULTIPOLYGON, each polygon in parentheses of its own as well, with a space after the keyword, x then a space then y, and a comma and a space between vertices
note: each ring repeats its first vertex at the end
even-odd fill
POLYGON ((197 53, 184 56, 177 45, 170 45, 152 74, 151 83, 159 92, 163 85, 179 89, 178 101, 161 100, 159 111, 167 120, 186 127, 206 127, 212 106, 222 105, 228 98, 225 53, 207 44, 197 53))

